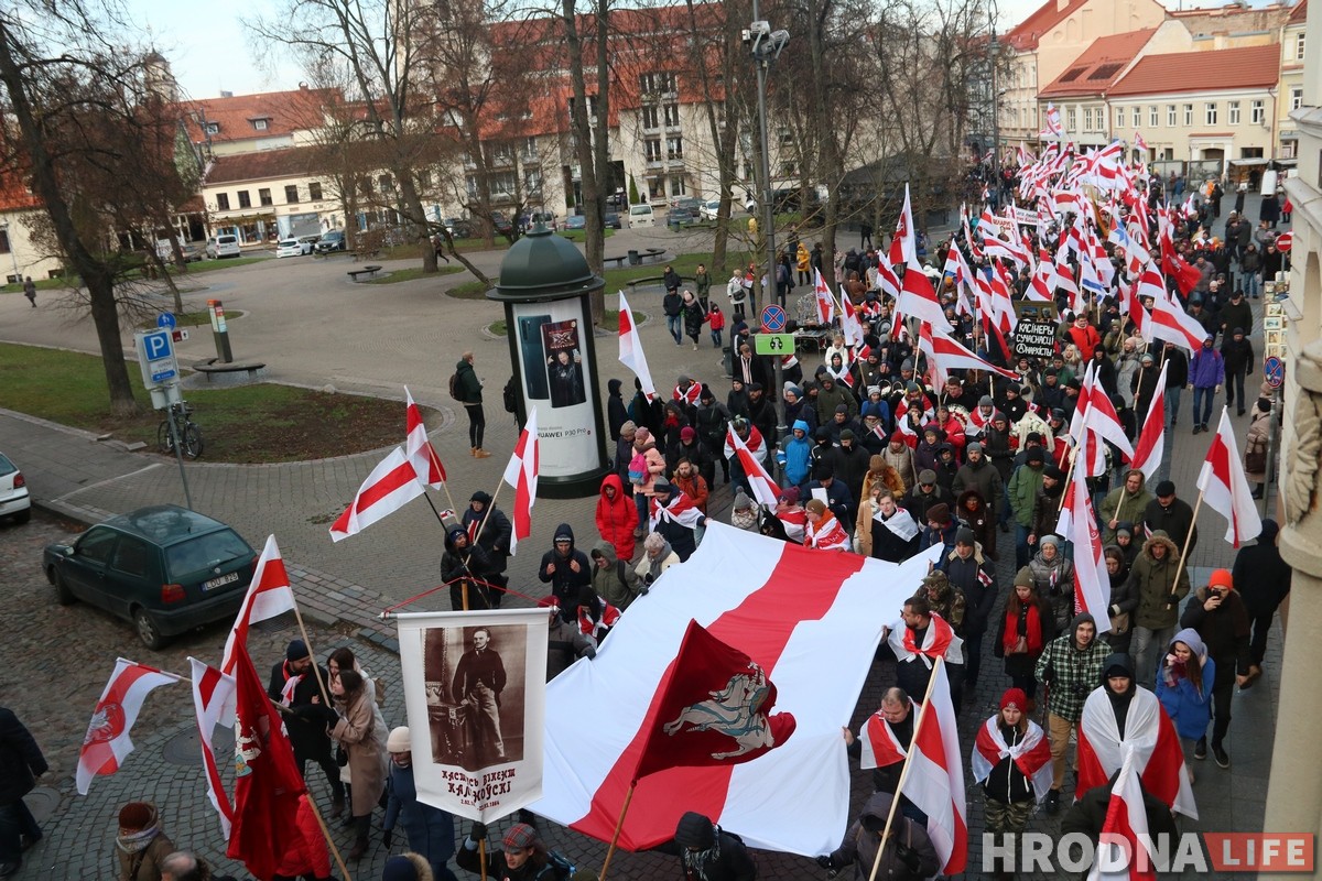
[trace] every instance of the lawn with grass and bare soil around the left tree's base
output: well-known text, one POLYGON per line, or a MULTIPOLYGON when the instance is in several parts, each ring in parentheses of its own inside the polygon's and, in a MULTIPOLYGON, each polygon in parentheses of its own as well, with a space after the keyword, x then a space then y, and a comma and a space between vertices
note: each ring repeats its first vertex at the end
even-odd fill
MULTIPOLYGON (((128 365, 141 413, 110 413, 102 361, 54 349, 0 345, 5 407, 116 440, 156 449, 161 416, 151 408, 137 365, 128 365)), ((405 432, 399 402, 259 383, 192 390, 193 421, 202 429, 210 462, 288 462, 344 456, 398 442, 405 432)), ((427 408, 424 408, 427 409, 427 408)), ((424 419, 436 419, 432 412, 424 419)))

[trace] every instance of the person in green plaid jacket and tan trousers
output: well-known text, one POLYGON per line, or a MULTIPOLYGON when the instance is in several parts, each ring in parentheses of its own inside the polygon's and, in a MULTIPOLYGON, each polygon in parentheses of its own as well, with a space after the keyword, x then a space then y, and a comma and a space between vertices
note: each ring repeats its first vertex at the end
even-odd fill
POLYGON ((1083 704, 1101 679, 1101 666, 1109 654, 1110 646, 1097 638, 1096 619, 1083 613, 1075 616, 1069 631, 1047 643, 1047 650, 1038 658, 1036 679, 1046 686, 1047 736, 1051 738, 1052 775, 1047 814, 1060 810, 1069 736, 1077 734, 1083 704))

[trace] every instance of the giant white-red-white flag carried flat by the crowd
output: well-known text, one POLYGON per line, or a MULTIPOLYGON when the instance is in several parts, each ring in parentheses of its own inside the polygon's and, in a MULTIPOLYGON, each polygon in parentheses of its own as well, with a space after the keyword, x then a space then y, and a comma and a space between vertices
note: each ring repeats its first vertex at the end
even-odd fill
POLYGON ((914 594, 935 555, 891 565, 709 522, 698 551, 629 606, 596 659, 547 686, 545 795, 533 811, 611 840, 660 716, 661 684, 697 619, 776 683, 776 709, 795 716, 795 734, 751 762, 640 779, 621 847, 668 841, 680 816, 698 811, 752 847, 834 849, 849 823, 839 728, 858 704, 886 618, 914 594), (584 726, 584 719, 594 722, 584 726))

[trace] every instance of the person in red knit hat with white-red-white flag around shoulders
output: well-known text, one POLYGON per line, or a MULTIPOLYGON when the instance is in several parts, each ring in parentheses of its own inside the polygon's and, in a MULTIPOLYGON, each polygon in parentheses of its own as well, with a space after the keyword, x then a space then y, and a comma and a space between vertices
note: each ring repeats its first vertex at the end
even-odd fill
POLYGON ((1006 689, 999 711, 978 728, 970 756, 973 782, 982 789, 982 831, 995 836, 998 849, 1017 855, 993 869, 998 880, 1013 878, 1010 868, 1022 865, 1018 836, 1051 786, 1051 745, 1029 717, 1031 705, 1021 688, 1006 689))

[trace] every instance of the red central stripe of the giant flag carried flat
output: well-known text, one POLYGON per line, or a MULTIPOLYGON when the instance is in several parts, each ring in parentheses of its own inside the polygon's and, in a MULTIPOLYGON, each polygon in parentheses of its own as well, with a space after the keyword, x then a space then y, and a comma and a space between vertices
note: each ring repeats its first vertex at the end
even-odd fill
MULTIPOLYGON (((821 553, 787 544, 780 560, 765 584, 744 597, 734 609, 723 613, 707 627, 707 633, 747 654, 761 666, 773 680, 789 637, 801 621, 821 619, 836 602, 839 585, 863 568, 865 557, 854 553, 821 553), (834 590, 808 590, 805 584, 834 584, 834 590), (785 616, 783 609, 793 606, 796 614, 785 616)), ((571 829, 600 841, 609 841, 619 822, 620 806, 629 789, 633 771, 652 730, 660 701, 674 662, 666 667, 657 683, 652 703, 633 740, 624 748, 609 774, 592 796, 592 807, 571 829)), ((673 767, 639 781, 620 832, 620 847, 639 851, 654 847, 674 836, 674 826, 686 811, 706 816, 720 816, 730 789, 734 766, 727 767, 673 767), (676 798, 683 793, 683 798, 676 798)))

